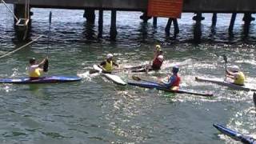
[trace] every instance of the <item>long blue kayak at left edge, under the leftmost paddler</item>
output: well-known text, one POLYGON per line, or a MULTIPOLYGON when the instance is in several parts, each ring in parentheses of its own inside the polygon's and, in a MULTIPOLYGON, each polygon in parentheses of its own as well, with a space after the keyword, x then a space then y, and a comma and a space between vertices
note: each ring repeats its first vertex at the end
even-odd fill
POLYGON ((30 84, 30 83, 54 83, 54 82, 75 82, 80 81, 78 76, 49 76, 42 77, 34 80, 30 78, 0 78, 0 83, 17 83, 17 84, 30 84))

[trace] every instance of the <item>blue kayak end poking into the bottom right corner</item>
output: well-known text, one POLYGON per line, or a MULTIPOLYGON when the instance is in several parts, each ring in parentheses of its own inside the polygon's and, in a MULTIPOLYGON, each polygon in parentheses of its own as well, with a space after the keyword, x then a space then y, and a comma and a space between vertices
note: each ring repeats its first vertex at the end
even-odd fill
POLYGON ((219 124, 214 124, 213 126, 216 129, 218 129, 220 132, 222 132, 222 134, 226 134, 227 136, 229 136, 230 138, 233 138, 236 141, 240 141, 246 144, 256 144, 256 139, 240 134, 238 131, 231 130, 219 124))

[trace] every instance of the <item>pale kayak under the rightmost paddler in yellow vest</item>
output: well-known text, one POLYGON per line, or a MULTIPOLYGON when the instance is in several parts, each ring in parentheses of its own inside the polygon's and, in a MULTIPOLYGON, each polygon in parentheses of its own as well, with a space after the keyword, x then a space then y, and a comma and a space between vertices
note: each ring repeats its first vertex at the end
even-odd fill
POLYGON ((239 86, 239 85, 236 85, 232 82, 227 82, 225 80, 222 80, 220 78, 198 78, 198 77, 195 77, 195 80, 198 81, 198 82, 212 82, 212 83, 215 83, 215 84, 218 84, 218 85, 221 85, 221 86, 228 86, 230 88, 233 88, 235 90, 246 90, 246 91, 256 91, 256 89, 254 88, 250 88, 249 86, 239 86))

